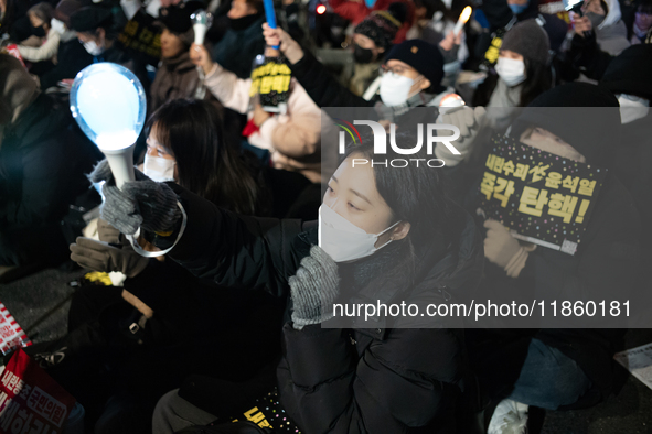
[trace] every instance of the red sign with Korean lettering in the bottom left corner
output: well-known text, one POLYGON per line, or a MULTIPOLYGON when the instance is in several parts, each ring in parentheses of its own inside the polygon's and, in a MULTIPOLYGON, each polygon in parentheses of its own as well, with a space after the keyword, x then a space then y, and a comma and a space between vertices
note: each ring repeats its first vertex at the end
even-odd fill
POLYGON ((0 377, 0 433, 57 434, 75 399, 19 349, 0 377))

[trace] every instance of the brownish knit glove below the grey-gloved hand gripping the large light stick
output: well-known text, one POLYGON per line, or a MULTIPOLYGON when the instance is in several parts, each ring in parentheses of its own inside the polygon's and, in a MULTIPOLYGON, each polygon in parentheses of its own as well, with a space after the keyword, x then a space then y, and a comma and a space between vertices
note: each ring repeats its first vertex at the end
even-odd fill
POLYGON ((149 259, 130 246, 120 249, 85 237, 77 237, 76 243, 71 245, 71 259, 85 269, 105 273, 119 271, 128 278, 135 278, 149 264, 149 259))

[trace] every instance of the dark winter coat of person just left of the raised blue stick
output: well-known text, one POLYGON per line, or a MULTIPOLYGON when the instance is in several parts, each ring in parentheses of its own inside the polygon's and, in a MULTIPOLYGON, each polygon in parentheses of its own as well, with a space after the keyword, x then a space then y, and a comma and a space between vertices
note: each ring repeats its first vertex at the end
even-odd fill
POLYGON ((265 15, 246 29, 227 30, 213 47, 213 59, 238 78, 249 78, 254 59, 265 52, 264 22, 265 15))

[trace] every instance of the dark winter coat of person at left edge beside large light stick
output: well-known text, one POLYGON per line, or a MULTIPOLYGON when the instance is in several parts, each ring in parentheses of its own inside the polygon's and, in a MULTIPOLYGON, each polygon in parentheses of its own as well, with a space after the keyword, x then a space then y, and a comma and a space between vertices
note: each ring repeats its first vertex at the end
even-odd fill
POLYGON ((88 188, 84 173, 97 159, 74 132, 68 113, 39 96, 10 127, 0 149, 0 264, 22 264, 43 254, 43 232, 60 231, 68 204, 88 188))

